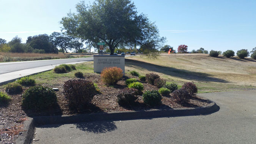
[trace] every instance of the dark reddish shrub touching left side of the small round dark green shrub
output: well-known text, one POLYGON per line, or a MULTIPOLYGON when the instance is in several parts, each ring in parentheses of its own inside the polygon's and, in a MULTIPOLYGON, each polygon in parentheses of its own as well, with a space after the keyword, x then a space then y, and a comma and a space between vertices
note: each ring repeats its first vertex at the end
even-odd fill
POLYGON ((129 105, 132 104, 137 97, 135 95, 138 94, 137 89, 133 88, 124 88, 120 92, 120 94, 117 95, 117 100, 119 105, 129 105))

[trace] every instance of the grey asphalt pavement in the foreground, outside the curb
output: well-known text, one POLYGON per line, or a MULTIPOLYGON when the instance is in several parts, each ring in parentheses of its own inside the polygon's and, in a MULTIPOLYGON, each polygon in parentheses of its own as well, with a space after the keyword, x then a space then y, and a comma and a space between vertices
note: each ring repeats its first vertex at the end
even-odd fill
POLYGON ((199 95, 220 110, 204 116, 43 125, 36 128, 33 144, 256 143, 256 90, 199 95))

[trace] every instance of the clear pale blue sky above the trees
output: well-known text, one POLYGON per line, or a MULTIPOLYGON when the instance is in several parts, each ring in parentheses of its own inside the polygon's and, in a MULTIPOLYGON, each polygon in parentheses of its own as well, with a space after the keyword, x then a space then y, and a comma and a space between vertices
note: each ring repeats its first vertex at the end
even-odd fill
MULTIPOLYGON (((0 38, 60 31, 59 21, 80 0, 1 0, 0 38)), ((85 0, 89 3, 89 0, 85 0)), ((93 2, 93 0, 90 0, 93 2)), ((188 51, 256 47, 256 0, 132 0, 139 13, 155 22, 166 44, 188 51)))

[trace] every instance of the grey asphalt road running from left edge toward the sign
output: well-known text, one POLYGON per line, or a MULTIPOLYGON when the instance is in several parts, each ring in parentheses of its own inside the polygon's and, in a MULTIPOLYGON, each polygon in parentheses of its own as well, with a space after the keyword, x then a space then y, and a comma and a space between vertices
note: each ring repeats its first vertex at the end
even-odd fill
POLYGON ((77 61, 90 61, 90 60, 93 60, 93 57, 0 63, 0 74, 15 72, 15 71, 24 70, 24 69, 31 69, 35 67, 50 66, 53 64, 63 64, 63 63, 71 63, 71 62, 77 62, 77 61))

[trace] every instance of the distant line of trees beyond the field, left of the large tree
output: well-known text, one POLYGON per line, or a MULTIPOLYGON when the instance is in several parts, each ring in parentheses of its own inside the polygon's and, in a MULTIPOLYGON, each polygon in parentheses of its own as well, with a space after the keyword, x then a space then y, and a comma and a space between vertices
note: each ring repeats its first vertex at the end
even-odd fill
POLYGON ((64 33, 53 32, 50 36, 47 34, 39 34, 29 36, 26 43, 22 43, 22 39, 15 36, 11 41, 6 42, 0 38, 0 52, 12 53, 68 53, 71 52, 91 52, 92 48, 97 48, 97 44, 90 41, 82 41, 80 38, 68 36, 64 33), (86 48, 83 48, 83 42, 86 48), (60 50, 58 50, 58 48, 60 50))

